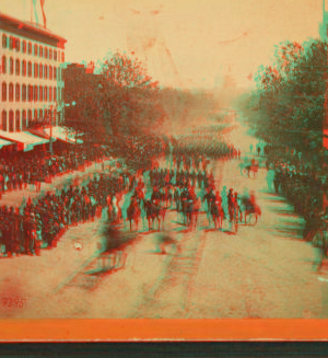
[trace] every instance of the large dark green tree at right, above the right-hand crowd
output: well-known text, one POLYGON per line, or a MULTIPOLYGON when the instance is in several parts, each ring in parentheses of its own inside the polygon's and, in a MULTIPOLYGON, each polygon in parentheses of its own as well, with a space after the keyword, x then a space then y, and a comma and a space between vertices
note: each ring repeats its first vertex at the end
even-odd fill
POLYGON ((326 43, 278 45, 273 65, 259 67, 248 100, 247 116, 256 135, 298 151, 321 151, 327 70, 326 43))

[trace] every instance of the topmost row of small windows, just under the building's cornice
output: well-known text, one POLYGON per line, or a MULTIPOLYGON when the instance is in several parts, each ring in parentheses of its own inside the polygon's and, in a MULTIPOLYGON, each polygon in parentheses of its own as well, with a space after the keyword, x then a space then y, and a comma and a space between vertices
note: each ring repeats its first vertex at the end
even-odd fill
POLYGON ((7 36, 5 34, 2 35, 2 47, 9 49, 15 49, 16 51, 21 50, 23 54, 39 56, 47 59, 54 58, 55 61, 57 60, 60 61, 60 56, 61 56, 61 62, 65 61, 63 51, 48 48, 48 47, 43 47, 37 44, 33 45, 31 42, 26 43, 26 41, 21 42, 19 38, 13 36, 7 36), (33 54, 32 54, 32 49, 33 49, 33 54))

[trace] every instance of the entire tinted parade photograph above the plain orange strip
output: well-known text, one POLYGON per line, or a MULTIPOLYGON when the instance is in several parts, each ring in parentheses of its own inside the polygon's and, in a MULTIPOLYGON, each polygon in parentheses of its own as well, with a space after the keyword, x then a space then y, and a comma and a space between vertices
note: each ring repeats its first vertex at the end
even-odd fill
POLYGON ((1 0, 0 321, 324 322, 327 30, 325 0, 1 0))

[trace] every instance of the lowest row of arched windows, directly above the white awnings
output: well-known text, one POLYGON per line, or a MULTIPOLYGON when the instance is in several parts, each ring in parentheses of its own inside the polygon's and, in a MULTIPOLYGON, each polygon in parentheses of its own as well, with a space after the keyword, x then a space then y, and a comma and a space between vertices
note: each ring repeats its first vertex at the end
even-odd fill
POLYGON ((52 118, 56 118, 57 111, 54 109, 23 109, 22 111, 22 123, 21 123, 21 112, 16 109, 14 113, 12 109, 9 111, 9 115, 7 115, 7 111, 2 111, 1 115, 1 130, 4 131, 21 131, 25 129, 28 124, 33 120, 47 119, 51 123, 52 118), (33 118, 32 118, 33 115, 33 118), (8 120, 9 119, 9 120, 8 120), (9 122, 9 123, 8 123, 9 122))

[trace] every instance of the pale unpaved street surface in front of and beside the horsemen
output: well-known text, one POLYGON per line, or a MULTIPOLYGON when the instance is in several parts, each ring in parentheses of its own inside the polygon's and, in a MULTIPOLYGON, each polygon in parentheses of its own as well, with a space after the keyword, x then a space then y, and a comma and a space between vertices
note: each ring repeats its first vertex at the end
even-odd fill
MULTIPOLYGON (((237 122, 226 140, 236 143, 244 157, 249 155, 249 143, 255 143, 237 122)), ((125 267, 97 275, 85 272, 99 264, 92 257, 102 220, 80 224, 40 257, 0 261, 5 273, 1 298, 15 293, 25 299, 24 308, 2 307, 1 316, 327 317, 328 281, 317 273, 319 250, 302 240, 303 219, 284 198, 268 193, 265 169, 248 178, 239 164, 238 160, 211 164, 216 188, 255 190, 262 211, 257 224, 239 224, 233 233, 224 222, 224 230, 215 231, 203 213, 191 232, 178 222, 176 211, 169 211, 166 230, 179 250, 169 246, 166 255, 159 254, 159 233, 139 228, 136 242, 127 249, 125 267), (82 251, 74 249, 75 241, 82 251)))

